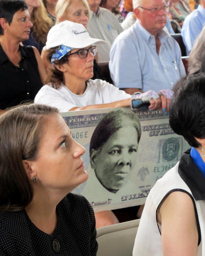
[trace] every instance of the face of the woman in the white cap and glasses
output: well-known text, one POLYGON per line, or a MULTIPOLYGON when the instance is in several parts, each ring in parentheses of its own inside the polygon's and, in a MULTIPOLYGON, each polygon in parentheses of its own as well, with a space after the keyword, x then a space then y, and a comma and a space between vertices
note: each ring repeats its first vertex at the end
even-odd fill
MULTIPOLYGON (((85 47, 88 49, 91 45, 85 47)), ((71 53, 78 49, 71 50, 71 53)), ((72 54, 68 58, 68 62, 63 64, 64 76, 68 75, 69 78, 88 80, 93 76, 93 55, 88 52, 87 57, 80 58, 77 54, 72 54)))

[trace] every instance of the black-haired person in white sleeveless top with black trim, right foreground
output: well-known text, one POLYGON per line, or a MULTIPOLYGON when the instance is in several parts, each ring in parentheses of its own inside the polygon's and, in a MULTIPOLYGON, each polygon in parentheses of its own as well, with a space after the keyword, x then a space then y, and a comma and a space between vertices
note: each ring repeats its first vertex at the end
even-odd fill
POLYGON ((191 149, 150 190, 137 230, 133 256, 203 256, 205 244, 205 74, 174 87, 169 124, 191 149))

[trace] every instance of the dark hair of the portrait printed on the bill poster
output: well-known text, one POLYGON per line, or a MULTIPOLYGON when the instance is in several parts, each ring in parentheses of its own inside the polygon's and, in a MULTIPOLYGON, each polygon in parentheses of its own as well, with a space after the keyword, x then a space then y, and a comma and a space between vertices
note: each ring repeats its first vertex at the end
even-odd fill
POLYGON ((95 127, 90 139, 89 153, 92 148, 100 148, 119 128, 126 126, 128 123, 127 119, 132 122, 133 127, 136 129, 137 142, 139 142, 141 126, 138 116, 130 108, 118 107, 105 114, 95 127))

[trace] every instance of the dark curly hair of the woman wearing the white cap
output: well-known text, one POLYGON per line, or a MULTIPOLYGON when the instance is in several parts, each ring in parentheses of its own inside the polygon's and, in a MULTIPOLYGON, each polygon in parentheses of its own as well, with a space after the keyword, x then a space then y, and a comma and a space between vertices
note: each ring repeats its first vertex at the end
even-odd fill
MULTIPOLYGON (((55 51, 58 47, 60 47, 60 46, 52 47, 52 48, 46 50, 47 51, 47 60, 49 63, 51 63, 52 54, 55 53, 55 51)), ((54 61, 54 64, 57 64, 60 66, 64 63, 68 62, 69 54, 70 54, 70 52, 67 52, 61 59, 54 61)), ((57 67, 54 64, 51 65, 51 67, 49 68, 49 72, 47 74, 47 79, 45 82, 50 83, 53 88, 57 89, 60 86, 61 82, 64 83, 64 77, 63 77, 63 72, 60 71, 59 69, 57 69, 57 67)))

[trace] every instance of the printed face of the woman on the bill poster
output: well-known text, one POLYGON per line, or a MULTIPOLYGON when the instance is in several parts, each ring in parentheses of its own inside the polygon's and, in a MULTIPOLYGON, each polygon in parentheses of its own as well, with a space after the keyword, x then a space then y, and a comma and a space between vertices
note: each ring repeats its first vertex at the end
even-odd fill
POLYGON ((95 174, 106 189, 116 192, 126 183, 136 162, 137 147, 136 129, 125 126, 113 133, 96 152, 93 157, 95 174))

